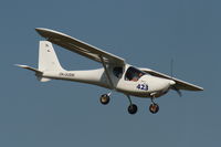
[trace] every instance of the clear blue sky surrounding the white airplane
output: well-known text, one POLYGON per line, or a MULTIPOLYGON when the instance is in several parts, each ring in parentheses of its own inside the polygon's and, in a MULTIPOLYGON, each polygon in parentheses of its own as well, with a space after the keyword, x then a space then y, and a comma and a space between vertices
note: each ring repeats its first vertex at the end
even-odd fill
MULTIPOLYGON (((221 145, 221 2, 218 0, 1 0, 0 146, 170 146, 221 145), (99 104, 108 91, 81 83, 40 83, 13 64, 36 66, 43 40, 34 28, 54 29, 126 59, 130 64, 169 74, 204 87, 149 99, 127 113, 119 93, 99 104)), ((101 67, 55 46, 66 70, 101 67)))

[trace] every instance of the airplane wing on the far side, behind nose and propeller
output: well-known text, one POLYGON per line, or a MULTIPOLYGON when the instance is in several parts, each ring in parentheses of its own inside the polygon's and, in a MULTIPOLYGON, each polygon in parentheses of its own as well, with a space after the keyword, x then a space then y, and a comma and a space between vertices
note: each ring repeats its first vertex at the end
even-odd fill
MULTIPOLYGON (((154 75, 154 76, 171 80, 171 76, 162 74, 162 73, 159 73, 159 72, 156 72, 156 71, 150 70, 150 69, 140 69, 140 70, 146 72, 146 73, 148 73, 148 74, 150 74, 150 75, 154 75)), ((202 87, 193 85, 193 84, 190 84, 188 82, 185 82, 185 81, 181 81, 181 80, 178 80, 178 78, 175 78, 175 77, 172 77, 172 80, 176 82, 175 87, 178 88, 178 90, 203 91, 202 87)))

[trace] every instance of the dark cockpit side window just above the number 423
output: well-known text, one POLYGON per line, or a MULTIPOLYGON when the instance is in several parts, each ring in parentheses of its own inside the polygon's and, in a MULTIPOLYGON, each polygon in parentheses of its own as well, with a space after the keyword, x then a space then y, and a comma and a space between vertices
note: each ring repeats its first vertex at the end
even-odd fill
POLYGON ((145 74, 145 72, 139 71, 138 69, 130 66, 130 67, 127 69, 127 72, 125 74, 125 80, 137 82, 144 74, 145 74))

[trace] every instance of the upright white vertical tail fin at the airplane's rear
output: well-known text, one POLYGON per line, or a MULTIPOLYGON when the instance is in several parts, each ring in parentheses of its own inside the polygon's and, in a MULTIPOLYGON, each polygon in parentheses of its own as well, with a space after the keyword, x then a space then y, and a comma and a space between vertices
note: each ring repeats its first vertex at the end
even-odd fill
POLYGON ((52 43, 49 41, 40 41, 39 71, 64 71, 57 60, 52 43))

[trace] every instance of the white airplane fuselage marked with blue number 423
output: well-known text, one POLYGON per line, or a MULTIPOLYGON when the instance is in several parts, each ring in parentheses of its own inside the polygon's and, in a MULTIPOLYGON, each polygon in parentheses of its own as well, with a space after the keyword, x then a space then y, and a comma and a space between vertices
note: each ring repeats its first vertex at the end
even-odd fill
POLYGON ((134 95, 138 97, 151 97, 152 94, 155 97, 159 97, 166 94, 170 85, 175 84, 171 80, 156 77, 149 74, 143 75, 139 80, 125 80, 125 74, 127 69, 130 65, 126 65, 123 70, 120 77, 117 77, 113 74, 112 66, 107 67, 109 77, 113 82, 114 88, 110 86, 110 83, 105 74, 104 69, 90 70, 90 71, 55 71, 55 72, 43 72, 42 77, 55 78, 55 80, 65 80, 73 82, 81 82, 93 84, 106 88, 113 88, 117 92, 122 92, 126 95, 134 95))

